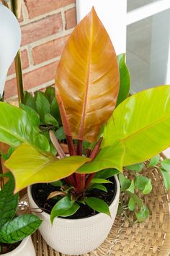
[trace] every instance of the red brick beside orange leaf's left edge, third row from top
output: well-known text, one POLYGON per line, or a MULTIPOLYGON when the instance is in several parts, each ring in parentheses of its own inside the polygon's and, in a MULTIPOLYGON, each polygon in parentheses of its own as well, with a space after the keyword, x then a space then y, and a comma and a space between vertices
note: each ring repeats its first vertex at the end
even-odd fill
POLYGON ((61 56, 67 40, 68 35, 33 48, 32 56, 34 59, 34 64, 40 64, 41 62, 61 56))

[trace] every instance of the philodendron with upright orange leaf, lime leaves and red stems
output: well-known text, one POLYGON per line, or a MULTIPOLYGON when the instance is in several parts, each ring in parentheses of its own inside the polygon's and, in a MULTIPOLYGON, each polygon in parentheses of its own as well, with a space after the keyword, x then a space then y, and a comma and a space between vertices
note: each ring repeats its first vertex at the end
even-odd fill
MULTIPOLYGON (((170 86, 127 98, 130 77, 123 58, 119 62, 120 67, 93 8, 68 39, 55 77, 69 155, 49 131, 53 154, 31 113, 0 103, 0 140, 15 148, 5 163, 14 174, 15 192, 53 182, 52 222, 73 215, 81 204, 109 215, 107 203, 89 191, 107 193, 104 184, 123 166, 146 161, 170 145, 170 86)), ((132 191, 129 195, 134 199, 132 191)))

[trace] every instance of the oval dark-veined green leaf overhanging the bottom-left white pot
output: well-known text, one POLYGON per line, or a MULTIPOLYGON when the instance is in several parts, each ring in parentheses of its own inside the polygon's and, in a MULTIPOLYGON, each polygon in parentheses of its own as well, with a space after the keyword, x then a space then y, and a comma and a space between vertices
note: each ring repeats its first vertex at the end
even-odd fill
POLYGON ((24 214, 8 221, 1 227, 0 241, 8 244, 21 241, 34 233, 42 221, 32 214, 24 214))

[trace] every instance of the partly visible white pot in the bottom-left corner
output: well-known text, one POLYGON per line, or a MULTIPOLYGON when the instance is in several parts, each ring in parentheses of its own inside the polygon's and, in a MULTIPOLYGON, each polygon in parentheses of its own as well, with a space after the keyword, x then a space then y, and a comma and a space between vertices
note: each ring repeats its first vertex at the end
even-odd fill
POLYGON ((31 236, 23 239, 21 244, 12 252, 5 253, 1 256, 35 256, 35 247, 32 243, 31 236))

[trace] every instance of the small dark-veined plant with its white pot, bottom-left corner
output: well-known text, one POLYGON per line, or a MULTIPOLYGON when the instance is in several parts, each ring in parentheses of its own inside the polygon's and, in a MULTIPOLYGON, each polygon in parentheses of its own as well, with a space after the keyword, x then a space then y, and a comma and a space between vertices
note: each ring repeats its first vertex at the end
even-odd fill
POLYGON ((0 255, 34 256, 35 248, 30 235, 42 221, 35 215, 16 216, 19 195, 14 193, 14 178, 5 174, 8 182, 0 191, 0 255))

